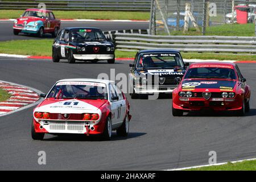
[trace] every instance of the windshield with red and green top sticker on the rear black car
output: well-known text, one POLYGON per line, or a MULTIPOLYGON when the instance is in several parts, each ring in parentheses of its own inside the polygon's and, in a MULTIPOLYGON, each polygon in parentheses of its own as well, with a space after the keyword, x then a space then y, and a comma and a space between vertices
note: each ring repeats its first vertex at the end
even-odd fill
POLYGON ((73 29, 70 31, 71 41, 104 41, 105 35, 100 30, 92 30, 85 28, 73 29))

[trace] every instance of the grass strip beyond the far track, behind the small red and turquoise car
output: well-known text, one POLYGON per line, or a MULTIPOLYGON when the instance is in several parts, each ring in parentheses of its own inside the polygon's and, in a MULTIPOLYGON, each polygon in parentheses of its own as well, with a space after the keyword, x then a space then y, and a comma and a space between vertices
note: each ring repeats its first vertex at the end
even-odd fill
MULTIPOLYGON (((0 19, 19 18, 24 10, 0 10, 0 19)), ((134 19, 148 20, 150 13, 130 11, 53 11, 58 19, 134 19)))

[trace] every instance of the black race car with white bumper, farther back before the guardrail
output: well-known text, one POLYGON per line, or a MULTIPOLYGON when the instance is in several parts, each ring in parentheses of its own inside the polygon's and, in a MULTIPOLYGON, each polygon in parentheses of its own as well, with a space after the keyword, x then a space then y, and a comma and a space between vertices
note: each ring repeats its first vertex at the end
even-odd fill
POLYGON ((99 28, 72 27, 63 28, 52 45, 52 60, 59 62, 67 59, 68 63, 76 60, 92 61, 108 60, 115 62, 114 44, 108 41, 99 28))

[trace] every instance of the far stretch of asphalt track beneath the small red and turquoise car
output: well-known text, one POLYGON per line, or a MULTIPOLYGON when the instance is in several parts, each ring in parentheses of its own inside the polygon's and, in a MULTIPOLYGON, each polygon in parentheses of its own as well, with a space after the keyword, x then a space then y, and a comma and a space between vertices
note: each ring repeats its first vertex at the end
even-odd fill
MULTIPOLYGON (((149 23, 147 22, 61 22, 61 28, 65 27, 97 27, 102 31, 110 30, 129 30, 129 29, 147 29, 149 23)), ((45 34, 44 38, 51 38, 50 34, 45 34)), ((13 34, 13 22, 0 22, 0 41, 6 40, 26 40, 26 39, 40 39, 36 36, 26 34, 13 34)))

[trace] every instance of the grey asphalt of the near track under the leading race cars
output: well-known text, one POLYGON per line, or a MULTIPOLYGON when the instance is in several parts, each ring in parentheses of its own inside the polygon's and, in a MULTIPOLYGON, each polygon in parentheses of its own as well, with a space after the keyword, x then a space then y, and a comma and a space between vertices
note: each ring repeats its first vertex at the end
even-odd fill
MULTIPOLYGON (((90 64, 0 57, 0 78, 47 93, 62 78, 96 78, 99 73, 128 73, 130 61, 90 64)), ((256 157, 256 64, 239 64, 251 86, 251 111, 245 117, 229 113, 190 113, 172 117, 171 98, 131 100, 130 133, 111 141, 55 137, 32 140, 32 107, 0 117, 0 169, 152 170, 208 164, 209 151, 217 162, 256 157), (46 152, 46 165, 38 152, 46 152)))

